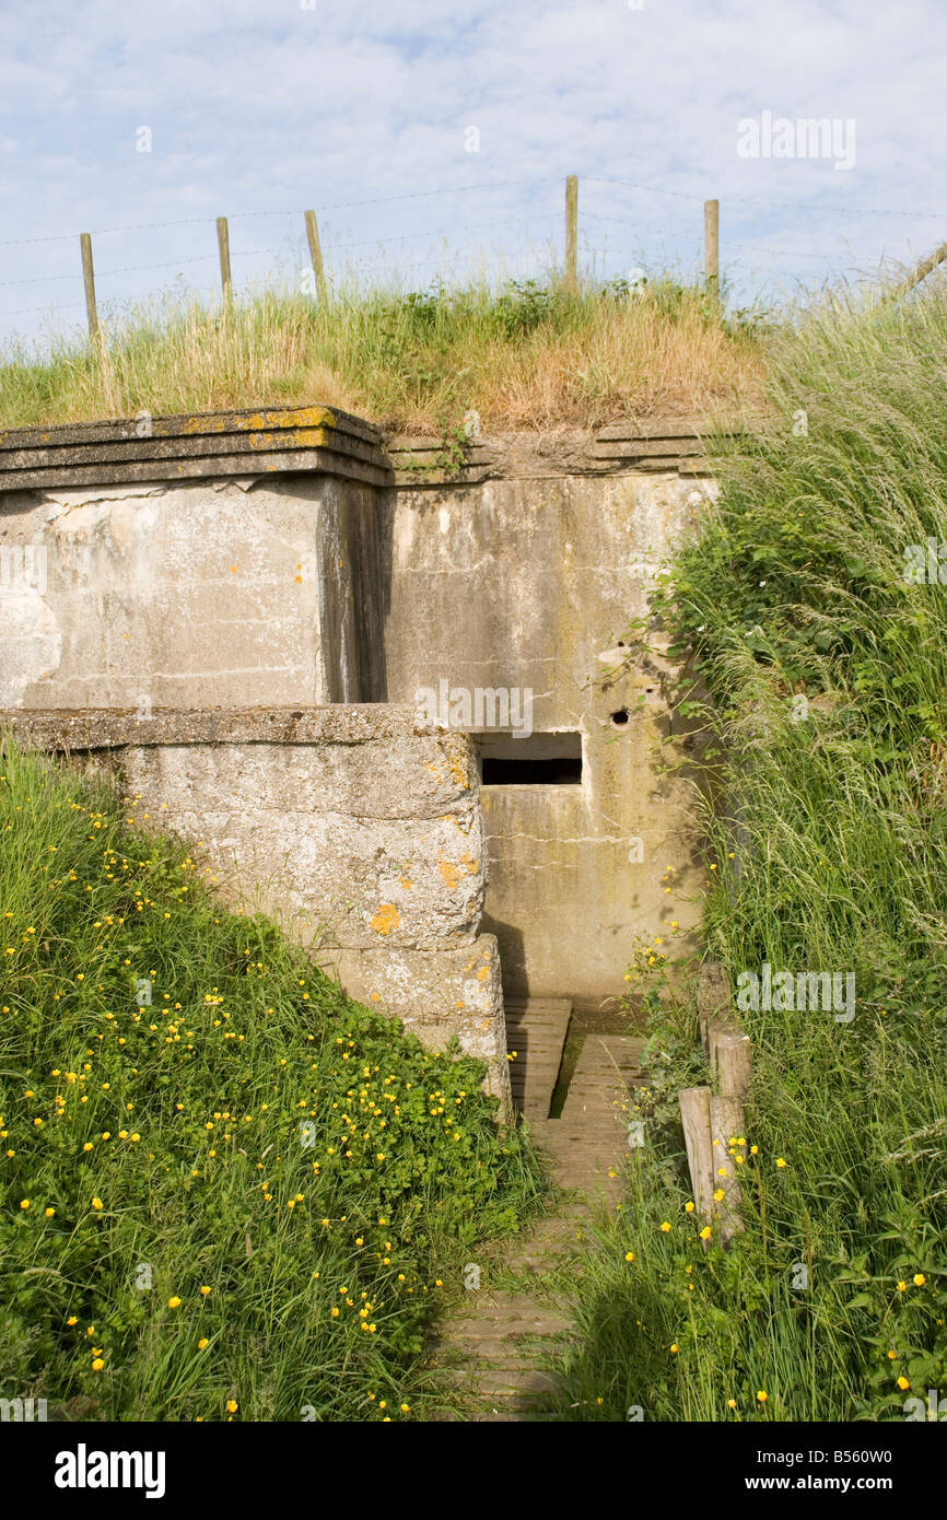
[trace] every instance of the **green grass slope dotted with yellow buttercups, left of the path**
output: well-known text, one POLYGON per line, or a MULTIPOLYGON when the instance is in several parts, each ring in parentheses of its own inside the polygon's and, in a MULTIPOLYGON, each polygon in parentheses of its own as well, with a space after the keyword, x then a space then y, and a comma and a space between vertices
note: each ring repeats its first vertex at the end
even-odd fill
POLYGON ((111 792, 0 751, 0 1395, 413 1420, 474 1240, 534 1207, 483 1069, 348 1000, 111 792))

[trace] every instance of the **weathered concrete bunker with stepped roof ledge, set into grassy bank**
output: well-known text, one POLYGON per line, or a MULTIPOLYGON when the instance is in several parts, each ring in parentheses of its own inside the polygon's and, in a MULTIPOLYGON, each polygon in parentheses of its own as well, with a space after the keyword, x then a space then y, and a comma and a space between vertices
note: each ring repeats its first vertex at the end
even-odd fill
MULTIPOLYGON (((698 450, 687 421, 511 435, 471 445, 448 477, 435 441, 386 444, 331 407, 155 418, 147 438, 134 421, 0 433, 0 708, 35 734, 43 714, 53 748, 64 719, 103 724, 103 740, 114 717, 123 763, 173 790, 198 751, 204 765, 228 745, 234 771, 230 720, 243 725, 264 786, 274 724, 298 736, 299 724, 315 733, 319 714, 344 725, 353 713, 371 728, 377 705, 371 745, 391 760, 392 819, 403 807, 413 816, 420 784, 406 780, 398 746, 447 730, 462 758, 438 751, 420 765, 461 766, 483 841, 479 856, 441 851, 439 862, 429 841, 450 901, 435 917, 450 920, 479 883, 468 938, 450 948, 496 936, 499 961, 488 945, 480 980, 502 1009, 502 968, 520 1028, 531 1003, 599 1008, 625 990, 635 935, 670 917, 687 926, 696 883, 687 783, 655 763, 675 725, 673 666, 661 649, 631 655, 625 632, 646 616, 695 494, 713 489, 698 450), (196 714, 217 737, 199 730, 184 763, 175 724, 193 731, 196 714)), ((280 740, 290 743, 306 748, 280 740)), ((312 816, 337 816, 337 854, 351 865, 362 860, 359 807, 365 796, 382 807, 386 781, 382 768, 359 803, 348 763, 359 746, 333 745, 348 812, 330 789, 313 793, 312 816)), ((269 775, 284 765, 274 749, 269 775)), ((187 784, 193 792, 193 775, 187 784)), ((188 809, 178 813, 187 827, 188 809)), ((383 1006, 424 1009, 426 1038, 439 1038, 441 1020, 442 1031, 465 1028, 473 1047, 483 1000, 458 1020, 464 997, 445 964, 418 959, 447 947, 398 945, 397 894, 409 889, 392 876, 395 854, 371 866, 377 901, 362 939, 339 942, 337 974, 356 996, 385 982, 383 1006)), ((283 869, 275 836, 252 869, 264 876, 274 860, 283 869)), ((319 891, 309 907, 325 917, 319 891)), ((496 1008, 486 1017, 496 1034, 496 1008)), ((485 1055, 503 1091, 497 1040, 485 1055)))

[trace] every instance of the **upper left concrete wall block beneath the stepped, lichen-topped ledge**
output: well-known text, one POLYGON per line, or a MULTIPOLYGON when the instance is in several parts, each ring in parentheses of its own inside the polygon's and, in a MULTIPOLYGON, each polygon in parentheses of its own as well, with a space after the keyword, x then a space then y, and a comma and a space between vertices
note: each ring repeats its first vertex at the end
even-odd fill
POLYGON ((374 489, 251 485, 0 497, 0 707, 383 699, 374 489))

